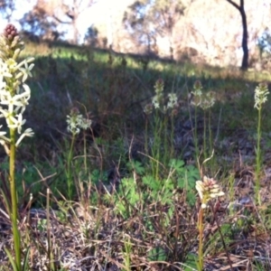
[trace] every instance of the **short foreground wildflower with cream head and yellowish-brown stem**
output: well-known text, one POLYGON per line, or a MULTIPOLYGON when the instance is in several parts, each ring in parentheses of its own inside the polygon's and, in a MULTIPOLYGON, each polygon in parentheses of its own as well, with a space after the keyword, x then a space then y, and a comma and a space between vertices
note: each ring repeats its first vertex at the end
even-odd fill
POLYGON ((203 181, 196 182, 196 190, 201 198, 201 209, 199 211, 198 229, 199 229, 199 262, 198 269, 203 270, 203 218, 204 210, 211 199, 218 198, 224 195, 220 190, 220 186, 212 178, 203 177, 203 181))

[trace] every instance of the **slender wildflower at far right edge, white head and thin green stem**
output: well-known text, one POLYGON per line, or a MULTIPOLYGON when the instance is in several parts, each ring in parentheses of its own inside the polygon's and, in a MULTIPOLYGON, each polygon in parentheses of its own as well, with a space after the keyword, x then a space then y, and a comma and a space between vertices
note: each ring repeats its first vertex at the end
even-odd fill
POLYGON ((261 168, 261 149, 260 149, 260 140, 261 140, 261 118, 262 118, 262 107, 267 100, 267 95, 269 94, 267 84, 261 83, 255 89, 255 105, 257 108, 257 148, 256 148, 256 197, 257 203, 261 204, 260 199, 260 168, 261 168))

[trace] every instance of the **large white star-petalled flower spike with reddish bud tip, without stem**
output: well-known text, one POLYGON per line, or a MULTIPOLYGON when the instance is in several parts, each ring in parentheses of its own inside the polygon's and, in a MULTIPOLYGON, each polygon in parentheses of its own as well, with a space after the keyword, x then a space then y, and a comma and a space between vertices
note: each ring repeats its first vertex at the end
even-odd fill
MULTIPOLYGON (((25 123, 23 112, 31 98, 31 90, 25 84, 28 76, 32 77, 31 70, 34 64, 33 58, 26 58, 18 63, 16 60, 23 50, 23 42, 14 25, 8 24, 5 31, 0 35, 0 117, 5 117, 6 125, 11 130, 17 130, 20 135, 16 141, 18 146, 24 136, 33 136, 31 128, 26 129, 22 134, 22 127, 25 123)), ((0 132, 0 143, 5 146, 8 154, 7 143, 10 139, 5 137, 5 132, 0 132)))

